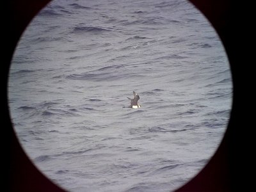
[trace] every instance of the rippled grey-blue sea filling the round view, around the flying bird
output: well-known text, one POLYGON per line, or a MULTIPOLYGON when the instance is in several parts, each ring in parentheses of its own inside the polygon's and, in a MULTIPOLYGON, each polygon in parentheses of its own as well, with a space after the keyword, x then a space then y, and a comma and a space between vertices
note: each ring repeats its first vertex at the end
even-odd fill
POLYGON ((173 191, 220 145, 232 78, 188 1, 58 0, 22 35, 8 99, 25 152, 67 191, 173 191))

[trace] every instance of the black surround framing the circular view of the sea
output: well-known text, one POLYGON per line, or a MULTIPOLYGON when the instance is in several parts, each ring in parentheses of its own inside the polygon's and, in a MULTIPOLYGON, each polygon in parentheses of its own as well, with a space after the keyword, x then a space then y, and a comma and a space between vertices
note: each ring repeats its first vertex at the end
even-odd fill
MULTIPOLYGON (((4 191, 63 191, 35 168, 20 147, 10 121, 6 90, 12 54, 20 35, 33 16, 48 2, 49 0, 10 0, 3 3, 1 30, 4 52, 1 58, 1 88, 4 96, 1 99, 1 165, 5 174, 0 187, 5 188, 4 191)), ((253 65, 248 64, 253 64, 254 61, 251 60, 252 54, 248 54, 248 45, 253 38, 247 33, 250 30, 248 22, 253 20, 248 17, 248 10, 253 5, 228 0, 191 2, 204 13, 220 35, 230 61, 234 95, 227 132, 216 154, 195 178, 177 191, 247 191, 250 187, 255 189, 248 175, 255 168, 248 161, 255 151, 252 150, 254 143, 248 142, 252 141, 249 136, 253 134, 253 128, 255 129, 252 118, 248 116, 250 104, 253 102, 248 95, 253 95, 253 86, 251 89, 246 88, 248 84, 252 84, 248 74, 253 70, 253 65)))

